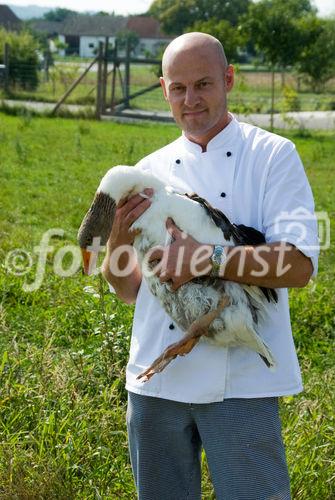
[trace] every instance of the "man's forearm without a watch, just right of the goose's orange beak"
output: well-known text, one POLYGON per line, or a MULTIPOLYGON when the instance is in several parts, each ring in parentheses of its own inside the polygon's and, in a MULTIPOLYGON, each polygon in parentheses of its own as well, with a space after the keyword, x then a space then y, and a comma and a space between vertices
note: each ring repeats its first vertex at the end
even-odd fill
POLYGON ((129 252, 121 254, 117 262, 113 261, 111 255, 110 252, 106 254, 101 266, 101 272, 123 302, 134 304, 142 281, 142 273, 135 252, 133 254, 129 252), (123 271, 127 269, 129 269, 129 272, 124 272, 123 275, 123 271))

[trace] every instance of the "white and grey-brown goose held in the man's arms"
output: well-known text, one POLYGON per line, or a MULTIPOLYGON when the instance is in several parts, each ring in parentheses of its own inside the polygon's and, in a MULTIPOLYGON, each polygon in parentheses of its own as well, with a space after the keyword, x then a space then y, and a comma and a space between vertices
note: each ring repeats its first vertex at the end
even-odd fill
POLYGON ((87 273, 89 269, 92 252, 88 249, 94 239, 98 238, 101 245, 107 243, 117 203, 136 194, 146 197, 143 193, 146 188, 153 189, 151 205, 131 226, 137 230, 133 246, 151 293, 184 336, 169 345, 137 378, 143 382, 149 380, 176 356, 189 353, 200 339, 224 347, 248 347, 260 355, 260 362, 275 369, 275 359, 257 332, 268 304, 278 300, 274 289, 205 276, 172 291, 169 283, 161 283, 151 272, 155 263, 146 258, 148 251, 171 242, 166 229, 168 218, 200 243, 222 246, 265 243, 262 233, 231 223, 200 196, 180 193, 151 173, 131 166, 111 168, 102 178, 78 231, 84 271, 87 273))

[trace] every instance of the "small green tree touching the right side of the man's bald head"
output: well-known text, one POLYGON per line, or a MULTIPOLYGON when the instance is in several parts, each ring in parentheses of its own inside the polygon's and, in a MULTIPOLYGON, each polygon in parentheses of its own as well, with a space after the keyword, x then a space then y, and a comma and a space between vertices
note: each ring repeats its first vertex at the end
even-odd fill
POLYGON ((238 48, 242 45, 242 39, 239 31, 228 21, 217 21, 212 18, 208 21, 197 21, 187 31, 202 31, 215 36, 224 46, 228 62, 236 61, 238 58, 238 48))

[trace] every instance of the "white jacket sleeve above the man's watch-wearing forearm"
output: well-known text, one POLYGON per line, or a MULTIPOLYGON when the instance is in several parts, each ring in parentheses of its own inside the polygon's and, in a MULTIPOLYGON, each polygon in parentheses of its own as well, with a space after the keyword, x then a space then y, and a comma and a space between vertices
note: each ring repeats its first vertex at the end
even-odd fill
POLYGON ((268 243, 291 243, 313 264, 317 274, 318 224, 314 200, 294 144, 287 141, 269 166, 263 198, 263 231, 268 243))

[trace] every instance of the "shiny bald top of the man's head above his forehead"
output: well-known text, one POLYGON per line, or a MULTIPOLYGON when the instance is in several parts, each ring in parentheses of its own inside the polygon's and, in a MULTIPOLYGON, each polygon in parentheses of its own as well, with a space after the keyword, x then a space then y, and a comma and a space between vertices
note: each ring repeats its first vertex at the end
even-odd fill
POLYGON ((178 36, 166 47, 162 59, 163 76, 180 55, 196 53, 199 57, 210 58, 225 70, 228 63, 221 42, 207 33, 193 32, 178 36))

